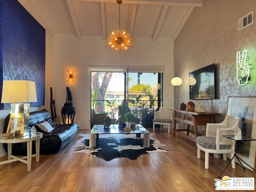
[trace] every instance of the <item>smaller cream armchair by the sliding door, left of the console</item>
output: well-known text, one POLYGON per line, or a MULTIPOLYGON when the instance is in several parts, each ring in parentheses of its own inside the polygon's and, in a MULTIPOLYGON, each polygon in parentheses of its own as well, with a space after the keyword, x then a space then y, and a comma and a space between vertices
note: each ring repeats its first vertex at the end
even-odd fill
POLYGON ((163 125, 168 125, 168 133, 170 133, 173 109, 173 107, 160 107, 158 111, 154 112, 153 132, 155 132, 155 124, 160 124, 160 130, 163 125))

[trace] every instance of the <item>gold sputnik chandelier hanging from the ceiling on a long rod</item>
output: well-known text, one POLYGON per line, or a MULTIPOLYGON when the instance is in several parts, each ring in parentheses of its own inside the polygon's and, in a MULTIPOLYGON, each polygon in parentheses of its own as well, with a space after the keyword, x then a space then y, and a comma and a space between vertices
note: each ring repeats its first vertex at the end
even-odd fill
POLYGON ((113 51, 113 53, 120 53, 126 52, 132 48, 132 35, 127 31, 120 29, 120 4, 123 1, 117 0, 116 2, 119 4, 119 27, 108 34, 105 46, 109 51, 113 51))

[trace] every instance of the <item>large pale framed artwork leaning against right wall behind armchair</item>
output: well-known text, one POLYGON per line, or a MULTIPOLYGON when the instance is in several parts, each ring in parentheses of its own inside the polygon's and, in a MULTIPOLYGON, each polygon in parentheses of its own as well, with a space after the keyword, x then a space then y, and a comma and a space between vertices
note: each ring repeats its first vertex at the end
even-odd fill
MULTIPOLYGON (((228 97, 227 115, 241 117, 239 128, 242 136, 256 139, 256 97, 228 97)), ((253 141, 246 141, 237 154, 244 162, 254 168, 256 167, 255 155, 256 142, 253 141)), ((252 170, 246 164, 243 165, 252 170)))

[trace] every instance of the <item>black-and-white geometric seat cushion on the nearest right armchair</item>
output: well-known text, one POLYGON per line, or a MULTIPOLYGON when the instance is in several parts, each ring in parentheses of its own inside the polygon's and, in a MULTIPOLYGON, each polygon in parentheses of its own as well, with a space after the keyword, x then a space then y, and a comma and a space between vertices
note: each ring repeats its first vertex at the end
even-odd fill
MULTIPOLYGON (((216 149, 216 137, 198 136, 196 143, 202 148, 216 149)), ((220 145, 220 149, 231 149, 231 145, 220 145)))

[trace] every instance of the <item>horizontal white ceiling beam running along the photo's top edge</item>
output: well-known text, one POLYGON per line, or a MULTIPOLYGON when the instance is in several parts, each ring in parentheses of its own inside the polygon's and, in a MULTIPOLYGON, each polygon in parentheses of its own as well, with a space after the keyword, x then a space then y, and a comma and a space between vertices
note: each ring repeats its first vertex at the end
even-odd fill
MULTIPOLYGON (((72 1, 116 3, 116 0, 72 0, 72 1)), ((147 4, 147 5, 200 7, 203 5, 203 0, 123 0, 123 3, 124 4, 147 4)))

